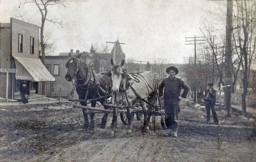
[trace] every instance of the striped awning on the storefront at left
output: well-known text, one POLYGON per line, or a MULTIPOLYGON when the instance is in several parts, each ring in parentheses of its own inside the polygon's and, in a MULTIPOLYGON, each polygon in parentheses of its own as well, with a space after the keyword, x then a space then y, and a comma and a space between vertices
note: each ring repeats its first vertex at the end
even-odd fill
POLYGON ((44 67, 39 58, 14 56, 17 72, 15 77, 18 80, 30 81, 55 81, 55 78, 44 67))

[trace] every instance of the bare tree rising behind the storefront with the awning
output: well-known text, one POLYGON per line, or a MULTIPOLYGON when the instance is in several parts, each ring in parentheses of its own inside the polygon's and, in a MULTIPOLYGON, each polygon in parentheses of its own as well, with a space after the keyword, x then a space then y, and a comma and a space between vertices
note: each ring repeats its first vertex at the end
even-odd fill
POLYGON ((24 5, 33 3, 36 5, 36 7, 39 9, 41 14, 41 25, 40 25, 40 47, 42 52, 42 62, 44 63, 45 60, 45 48, 49 47, 50 45, 45 44, 45 41, 48 39, 44 39, 44 26, 45 21, 49 21, 51 23, 54 23, 55 25, 60 25, 62 27, 62 23, 59 21, 55 21, 54 19, 48 19, 48 9, 49 7, 53 5, 61 4, 63 7, 65 7, 64 4, 61 3, 61 1, 58 0, 30 0, 30 1, 24 1, 19 5, 19 8, 24 7, 24 5))

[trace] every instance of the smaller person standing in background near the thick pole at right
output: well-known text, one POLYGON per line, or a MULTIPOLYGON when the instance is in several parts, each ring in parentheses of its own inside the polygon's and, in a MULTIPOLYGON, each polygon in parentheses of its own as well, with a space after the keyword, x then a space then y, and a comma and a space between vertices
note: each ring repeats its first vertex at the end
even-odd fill
POLYGON ((212 110, 213 121, 214 123, 219 125, 218 116, 214 107, 215 103, 216 103, 216 91, 215 89, 213 89, 213 83, 208 83, 208 89, 206 90, 206 93, 205 93, 207 123, 210 123, 211 121, 211 110, 212 110))

